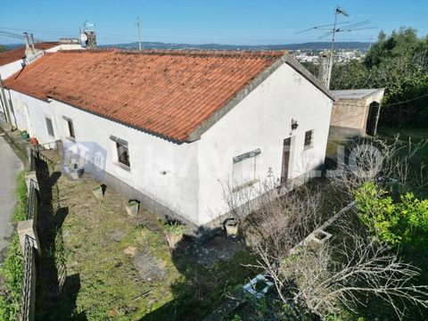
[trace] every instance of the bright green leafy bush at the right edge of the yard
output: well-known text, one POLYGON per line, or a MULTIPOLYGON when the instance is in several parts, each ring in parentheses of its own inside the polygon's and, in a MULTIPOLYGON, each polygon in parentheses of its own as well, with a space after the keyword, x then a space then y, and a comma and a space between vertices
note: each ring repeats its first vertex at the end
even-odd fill
POLYGON ((358 218, 383 242, 428 243, 428 200, 406 193, 399 196, 399 202, 394 202, 373 182, 362 185, 355 198, 358 218))

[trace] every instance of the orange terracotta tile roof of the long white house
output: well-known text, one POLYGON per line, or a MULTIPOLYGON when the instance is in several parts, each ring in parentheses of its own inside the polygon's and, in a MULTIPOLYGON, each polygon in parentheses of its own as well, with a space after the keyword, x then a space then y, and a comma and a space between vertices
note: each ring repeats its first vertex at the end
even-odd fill
POLYGON ((68 103, 176 142, 284 52, 64 51, 46 53, 5 86, 68 103))

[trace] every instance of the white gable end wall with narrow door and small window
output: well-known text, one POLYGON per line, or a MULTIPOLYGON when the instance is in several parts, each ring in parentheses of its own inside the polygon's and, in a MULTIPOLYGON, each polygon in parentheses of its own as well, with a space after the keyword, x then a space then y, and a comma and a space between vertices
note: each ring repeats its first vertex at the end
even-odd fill
POLYGON ((292 137, 290 178, 323 164, 332 105, 330 98, 284 64, 204 133, 199 148, 199 223, 228 211, 223 186, 232 177, 234 156, 259 148, 260 179, 267 177, 269 168, 279 178, 284 139, 292 137), (299 123, 293 131, 292 119, 299 123), (307 130, 314 130, 313 147, 304 150, 307 130))

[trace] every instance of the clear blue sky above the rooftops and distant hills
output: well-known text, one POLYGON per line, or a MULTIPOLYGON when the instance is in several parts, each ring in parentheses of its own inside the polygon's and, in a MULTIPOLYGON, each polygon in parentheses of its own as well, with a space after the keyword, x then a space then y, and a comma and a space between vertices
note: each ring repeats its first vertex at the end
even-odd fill
MULTIPOLYGON (((370 41, 381 29, 389 34, 400 26, 428 34, 427 0, 2 0, 0 30, 29 30, 39 39, 55 40, 78 37, 78 27, 91 21, 99 44, 128 43, 136 41, 139 15, 143 41, 289 44, 319 41, 321 30, 295 32, 333 23, 336 4, 351 14, 340 21, 370 20, 377 27, 342 33, 337 41, 370 41)), ((0 44, 19 42, 0 36, 0 44)))

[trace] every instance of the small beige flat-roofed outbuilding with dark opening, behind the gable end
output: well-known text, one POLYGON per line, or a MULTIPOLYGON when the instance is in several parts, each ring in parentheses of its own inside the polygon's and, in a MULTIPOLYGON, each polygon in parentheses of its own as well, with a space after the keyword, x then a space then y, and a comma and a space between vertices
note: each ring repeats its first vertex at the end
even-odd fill
POLYGON ((381 110, 384 88, 332 90, 331 129, 352 135, 374 136, 381 110))

